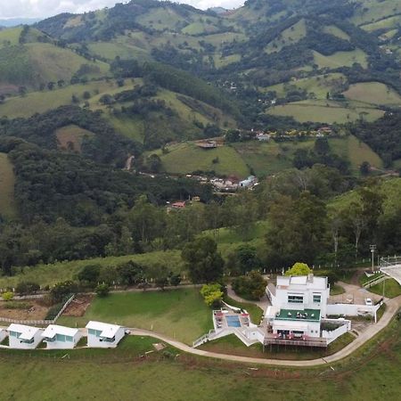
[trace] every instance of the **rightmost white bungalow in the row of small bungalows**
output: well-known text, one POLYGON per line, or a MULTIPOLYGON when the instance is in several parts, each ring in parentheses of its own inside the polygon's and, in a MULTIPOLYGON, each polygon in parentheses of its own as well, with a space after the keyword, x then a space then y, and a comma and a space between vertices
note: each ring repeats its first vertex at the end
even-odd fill
POLYGON ((94 348, 115 348, 126 334, 124 327, 102 322, 89 322, 86 329, 87 346, 94 348))

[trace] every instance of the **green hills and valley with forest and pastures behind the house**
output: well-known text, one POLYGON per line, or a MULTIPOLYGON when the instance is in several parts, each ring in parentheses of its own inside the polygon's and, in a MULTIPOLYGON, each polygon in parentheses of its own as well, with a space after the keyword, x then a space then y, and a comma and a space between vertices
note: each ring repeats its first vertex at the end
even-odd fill
POLYGON ((394 0, 132 0, 0 30, 4 274, 227 227, 228 263, 243 241, 274 267, 401 250, 399 208, 383 209, 401 168, 400 15, 394 0), (250 175, 232 197, 208 183, 250 175))

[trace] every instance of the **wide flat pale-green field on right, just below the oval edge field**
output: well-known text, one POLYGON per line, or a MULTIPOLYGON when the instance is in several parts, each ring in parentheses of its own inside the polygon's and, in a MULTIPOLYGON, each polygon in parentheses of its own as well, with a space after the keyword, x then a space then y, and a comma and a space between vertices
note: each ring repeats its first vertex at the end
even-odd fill
POLYGON ((302 101, 274 106, 267 110, 268 114, 275 116, 291 116, 299 122, 321 122, 321 123, 347 123, 361 118, 360 113, 366 113, 364 119, 374 121, 380 119, 384 111, 373 108, 353 107, 347 108, 336 102, 324 101, 302 101), (329 106, 327 106, 327 104, 329 106))

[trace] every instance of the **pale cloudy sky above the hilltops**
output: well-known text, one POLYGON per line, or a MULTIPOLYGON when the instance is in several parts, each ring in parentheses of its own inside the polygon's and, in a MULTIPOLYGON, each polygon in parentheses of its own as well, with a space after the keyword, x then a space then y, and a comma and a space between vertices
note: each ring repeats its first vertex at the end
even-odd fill
MULTIPOLYGON (((244 0, 180 0, 177 3, 191 4, 207 9, 221 6, 232 9, 244 3, 244 0)), ((0 0, 0 19, 5 18, 46 18, 60 12, 87 12, 116 3, 117 0, 0 0)))

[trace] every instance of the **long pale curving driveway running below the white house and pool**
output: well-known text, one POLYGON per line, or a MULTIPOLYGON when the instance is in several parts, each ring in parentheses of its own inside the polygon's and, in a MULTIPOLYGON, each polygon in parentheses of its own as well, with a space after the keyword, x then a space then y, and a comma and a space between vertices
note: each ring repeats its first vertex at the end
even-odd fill
POLYGON ((285 361, 278 359, 255 358, 250 356, 233 356, 226 354, 217 354, 216 352, 209 352, 197 348, 191 348, 180 341, 171 339, 168 336, 165 336, 163 334, 158 334, 153 331, 140 330, 140 329, 130 329, 130 330, 131 330, 131 335, 151 336, 158 340, 165 341, 171 346, 180 349, 181 351, 197 356, 206 356, 209 358, 223 359, 225 361, 241 362, 246 364, 271 364, 276 366, 299 366, 299 367, 318 366, 322 364, 334 363, 340 361, 340 359, 343 359, 346 356, 351 355, 354 351, 356 351, 357 348, 362 347, 368 340, 371 340, 372 337, 374 337, 378 332, 383 330, 390 323, 393 316, 396 315, 397 310, 401 307, 401 296, 387 300, 386 305, 387 305, 386 311, 382 315, 379 323, 373 324, 366 331, 364 331, 364 333, 359 335, 356 338, 356 340, 348 344, 347 347, 340 349, 339 352, 331 356, 311 359, 308 361, 288 361, 288 360, 285 361))

